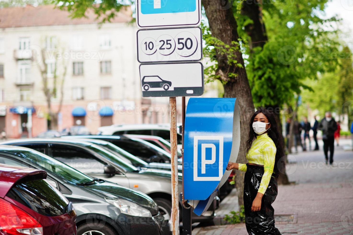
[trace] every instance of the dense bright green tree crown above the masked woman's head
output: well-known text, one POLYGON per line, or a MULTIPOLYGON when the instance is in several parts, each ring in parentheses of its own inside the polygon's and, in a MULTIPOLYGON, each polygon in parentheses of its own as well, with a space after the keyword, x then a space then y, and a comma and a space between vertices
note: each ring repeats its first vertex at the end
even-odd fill
POLYGON ((249 48, 245 26, 252 20, 239 11, 235 14, 254 103, 282 106, 294 101, 294 93, 310 89, 306 78, 315 80, 319 73, 336 68, 337 19, 323 19, 326 0, 265 2, 261 7, 268 41, 263 48, 249 48))

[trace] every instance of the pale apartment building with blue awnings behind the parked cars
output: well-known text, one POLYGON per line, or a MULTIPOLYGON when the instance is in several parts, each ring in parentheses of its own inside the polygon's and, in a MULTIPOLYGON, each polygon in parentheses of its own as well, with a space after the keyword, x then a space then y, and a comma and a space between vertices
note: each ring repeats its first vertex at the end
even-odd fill
POLYGON ((58 130, 169 122, 168 98, 141 96, 131 20, 130 8, 105 24, 53 5, 0 9, 0 132, 46 131, 48 97, 58 130))

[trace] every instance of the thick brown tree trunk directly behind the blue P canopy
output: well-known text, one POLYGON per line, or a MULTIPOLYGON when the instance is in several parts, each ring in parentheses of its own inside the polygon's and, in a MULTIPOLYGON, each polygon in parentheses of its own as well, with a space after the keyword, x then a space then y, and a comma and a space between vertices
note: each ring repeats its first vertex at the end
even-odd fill
MULTIPOLYGON (((203 5, 212 36, 227 45, 232 45, 232 41, 238 42, 237 22, 235 21, 232 8, 230 7, 229 9, 223 9, 221 7, 221 1, 215 0, 203 0, 203 5)), ((237 62, 243 65, 242 67, 239 67, 234 63, 228 64, 226 57, 222 57, 222 55, 217 54, 218 69, 216 73, 217 75, 220 75, 221 80, 227 81, 224 85, 224 97, 239 98, 240 130, 242 138, 240 140, 240 149, 237 162, 246 163, 245 144, 247 136, 249 135, 248 123, 254 112, 254 105, 252 102, 249 81, 247 80, 244 60, 240 50, 235 53, 235 57, 237 62), (229 78, 229 73, 234 73, 238 76, 229 78)), ((244 173, 237 171, 235 181, 238 190, 239 205, 243 205, 244 173)))

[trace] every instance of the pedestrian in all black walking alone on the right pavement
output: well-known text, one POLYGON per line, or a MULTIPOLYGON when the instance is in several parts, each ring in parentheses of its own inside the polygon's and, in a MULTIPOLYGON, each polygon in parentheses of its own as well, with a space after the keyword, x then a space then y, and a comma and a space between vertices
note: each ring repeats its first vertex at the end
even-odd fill
POLYGON ((318 126, 319 130, 322 130, 322 140, 324 142, 324 153, 326 164, 328 161, 328 151, 330 150, 330 165, 333 163, 333 153, 335 149, 335 138, 334 134, 337 130, 337 123, 330 112, 325 113, 325 118, 321 120, 318 126))

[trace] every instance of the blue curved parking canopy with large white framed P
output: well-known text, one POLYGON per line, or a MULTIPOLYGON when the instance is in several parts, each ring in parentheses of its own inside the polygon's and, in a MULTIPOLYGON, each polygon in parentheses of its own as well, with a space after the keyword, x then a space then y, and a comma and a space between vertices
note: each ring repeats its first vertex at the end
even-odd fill
POLYGON ((228 180, 228 161, 238 157, 238 99, 190 98, 184 131, 184 199, 201 215, 228 180))

